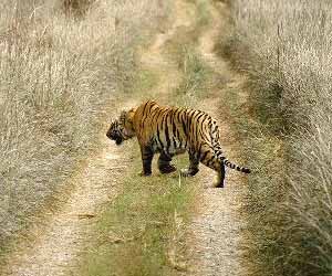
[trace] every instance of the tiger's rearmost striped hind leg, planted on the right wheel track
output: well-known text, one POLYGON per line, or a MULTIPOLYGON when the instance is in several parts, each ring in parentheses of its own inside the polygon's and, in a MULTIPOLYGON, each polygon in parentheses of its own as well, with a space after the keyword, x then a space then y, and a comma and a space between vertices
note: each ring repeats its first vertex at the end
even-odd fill
POLYGON ((226 176, 226 168, 222 162, 214 152, 214 150, 209 147, 203 149, 203 155, 200 157, 200 162, 205 166, 209 167, 210 169, 217 172, 217 178, 214 182, 214 187, 216 188, 224 188, 225 184, 225 176, 226 176))

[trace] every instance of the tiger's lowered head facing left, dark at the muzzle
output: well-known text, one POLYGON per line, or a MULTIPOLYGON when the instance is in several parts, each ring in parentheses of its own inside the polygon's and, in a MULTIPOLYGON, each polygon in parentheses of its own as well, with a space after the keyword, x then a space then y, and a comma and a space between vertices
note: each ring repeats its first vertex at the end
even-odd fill
POLYGON ((136 136, 133 123, 134 115, 134 108, 122 112, 117 119, 111 121, 106 136, 114 140, 116 145, 121 145, 124 140, 136 136))

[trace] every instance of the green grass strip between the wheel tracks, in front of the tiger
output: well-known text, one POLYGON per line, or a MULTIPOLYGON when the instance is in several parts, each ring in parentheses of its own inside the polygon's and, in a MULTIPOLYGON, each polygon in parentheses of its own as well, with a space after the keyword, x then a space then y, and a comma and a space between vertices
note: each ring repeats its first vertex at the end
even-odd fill
MULTIPOLYGON (((118 183, 123 192, 97 222, 97 241, 83 258, 82 276, 176 275, 185 268, 181 236, 195 198, 193 181, 179 179, 178 173, 159 174, 156 166, 153 177, 138 177, 139 151, 133 144, 129 148, 136 161, 118 183)), ((177 160, 178 167, 186 166, 184 159, 177 160)))

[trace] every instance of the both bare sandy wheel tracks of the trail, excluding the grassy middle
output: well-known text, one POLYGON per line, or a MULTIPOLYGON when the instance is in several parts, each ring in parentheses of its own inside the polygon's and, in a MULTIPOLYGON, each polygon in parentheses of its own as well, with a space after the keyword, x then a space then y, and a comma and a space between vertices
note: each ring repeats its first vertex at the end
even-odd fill
MULTIPOLYGON (((169 40, 177 35, 183 28, 193 28, 195 24, 195 4, 186 0, 174 0, 174 23, 166 33, 159 33, 154 43, 141 53, 142 66, 155 72, 158 84, 152 96, 167 103, 170 93, 181 81, 181 74, 176 61, 169 59, 164 49, 169 40)), ((220 10, 226 7, 220 3, 220 10)), ((220 75, 222 88, 212 89, 207 98, 197 106, 219 118, 221 127, 221 142, 230 159, 237 160, 231 153, 235 140, 226 114, 220 112, 216 98, 226 95, 228 86, 240 86, 241 77, 227 68, 227 63, 214 54, 217 34, 222 28, 222 15, 209 3, 211 14, 207 31, 199 39, 198 51, 204 60, 220 75), (224 93, 224 94, 222 94, 224 93)), ((139 99, 116 103, 113 106, 121 108, 133 107, 139 99)), ((114 108, 116 109, 116 108, 114 108)), ((221 108, 222 109, 222 108, 221 108)), ((116 116, 117 110, 110 114, 116 116)), ((38 238, 17 257, 12 258, 4 275, 12 276, 60 276, 75 275, 75 264, 89 241, 93 236, 93 225, 103 204, 110 202, 120 191, 117 181, 129 163, 129 156, 124 155, 123 148, 116 148, 105 138, 105 129, 101 130, 103 150, 89 157, 87 164, 73 178, 75 190, 70 200, 56 213, 48 216, 37 234, 38 238), (120 166, 121 164, 121 166, 120 166), (105 181, 106 179, 106 181, 105 181), (107 180, 108 179, 108 180, 107 180), (111 180, 112 179, 112 180, 111 180)), ((197 177, 200 185, 211 183, 211 171, 201 166, 197 177)), ((203 189, 198 214, 190 225, 189 250, 193 268, 188 275, 227 276, 246 275, 240 262, 241 230, 246 226, 239 214, 242 198, 246 197, 246 187, 239 173, 230 172, 225 189, 203 189)))

